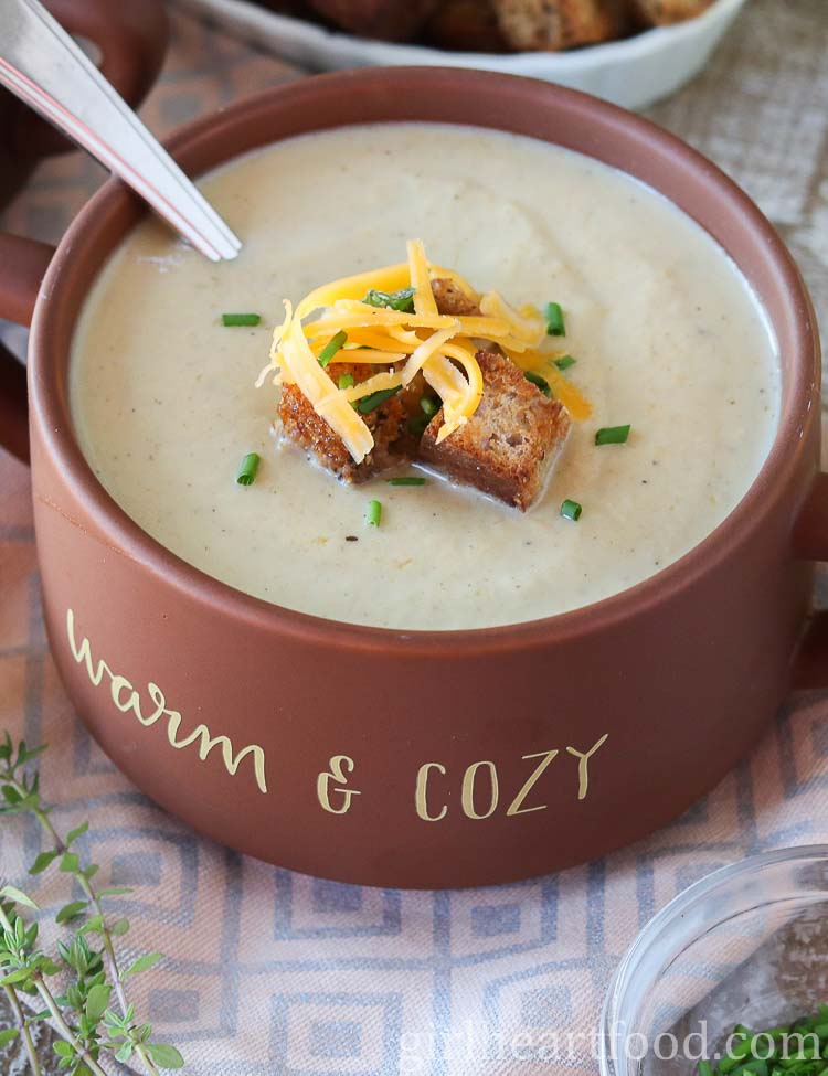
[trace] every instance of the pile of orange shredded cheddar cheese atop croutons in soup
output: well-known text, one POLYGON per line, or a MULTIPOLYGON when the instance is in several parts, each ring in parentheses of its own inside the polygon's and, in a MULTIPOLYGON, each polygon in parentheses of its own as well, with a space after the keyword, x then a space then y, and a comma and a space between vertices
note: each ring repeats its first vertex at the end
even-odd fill
POLYGON ((296 309, 285 300, 285 319, 273 334, 270 362, 256 384, 264 384, 273 375, 274 384, 296 385, 360 464, 374 441, 354 405, 375 392, 411 385, 418 374, 443 404, 438 444, 468 422, 484 394, 482 374, 475 358, 480 341, 498 345, 523 370, 542 369, 572 417, 587 417, 588 402, 560 371, 548 369, 548 356, 541 351, 544 339, 545 324, 535 307, 516 309, 497 291, 480 296, 453 269, 429 263, 423 243, 411 239, 405 262, 325 284, 305 296, 296 309), (450 280, 479 305, 480 313, 440 313, 432 290, 436 279, 450 280), (365 301, 369 291, 389 296, 402 291, 404 300, 408 288, 413 289, 413 310, 374 306, 374 297, 371 303, 365 301), (342 332, 346 341, 332 363, 386 369, 358 384, 339 387, 320 365, 319 355, 342 332))

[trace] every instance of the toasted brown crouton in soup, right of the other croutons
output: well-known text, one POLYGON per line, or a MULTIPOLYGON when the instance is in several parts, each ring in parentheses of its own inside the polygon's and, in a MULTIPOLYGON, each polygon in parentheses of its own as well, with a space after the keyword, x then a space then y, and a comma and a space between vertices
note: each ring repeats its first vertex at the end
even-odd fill
POLYGON ((443 412, 426 427, 420 457, 464 486, 526 511, 543 492, 570 416, 503 355, 478 351, 484 395, 468 422, 439 445, 443 412))

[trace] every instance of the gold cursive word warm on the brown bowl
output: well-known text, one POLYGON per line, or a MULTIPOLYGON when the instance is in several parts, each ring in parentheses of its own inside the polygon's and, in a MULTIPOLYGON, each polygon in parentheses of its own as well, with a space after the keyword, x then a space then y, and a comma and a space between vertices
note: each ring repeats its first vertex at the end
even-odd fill
POLYGON ((167 706, 167 699, 158 684, 152 683, 152 681, 147 684, 146 694, 149 696, 153 709, 151 713, 149 711, 145 713, 145 707, 147 706, 146 701, 142 701, 141 692, 132 685, 132 682, 120 673, 113 672, 103 658, 98 658, 95 661, 92 656, 92 644, 85 636, 81 640, 81 643, 77 643, 75 638, 75 614, 72 609, 66 610, 66 635, 68 636, 72 657, 79 665, 84 665, 93 686, 99 688, 105 679, 108 681, 109 696, 113 705, 121 714, 131 712, 145 728, 151 728, 156 722, 164 718, 167 722, 167 742, 170 747, 173 747, 176 750, 182 750, 184 747, 190 747, 191 744, 198 743, 199 759, 202 763, 205 761, 214 747, 220 747, 222 763, 231 777, 236 776, 238 767, 247 755, 252 756, 256 785, 261 792, 267 791, 265 753, 262 747, 257 744, 250 744, 247 747, 243 747, 240 752, 235 753, 233 743, 229 736, 213 736, 206 725, 197 725, 191 733, 180 736, 179 733, 183 718, 178 710, 170 710, 167 706))

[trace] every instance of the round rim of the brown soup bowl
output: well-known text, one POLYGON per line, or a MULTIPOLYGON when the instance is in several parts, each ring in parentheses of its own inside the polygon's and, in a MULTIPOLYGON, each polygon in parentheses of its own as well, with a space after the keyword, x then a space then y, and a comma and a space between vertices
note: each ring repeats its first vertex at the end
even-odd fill
MULTIPOLYGON (((733 180, 697 150, 651 121, 588 94, 541 79, 457 67, 392 66, 335 72, 276 86, 245 98, 179 128, 166 140, 166 145, 187 171, 188 164, 199 155, 210 156, 210 146, 216 140, 232 139, 233 129, 242 117, 250 121, 261 120, 266 129, 270 110, 289 111, 309 97, 325 97, 336 111, 337 102, 344 94, 358 99, 360 95, 364 98, 403 88, 411 94, 412 89, 416 92, 425 84, 431 90, 436 86, 446 93, 463 84, 466 92, 482 95, 501 108, 519 109, 529 103, 538 106, 539 99, 541 103, 546 99, 575 113, 584 122, 599 119, 614 132, 623 132, 630 152, 649 150, 656 157, 660 155, 671 161, 671 167, 693 173, 698 180, 716 190, 740 228, 753 232, 761 238, 768 263, 773 265, 779 294, 785 296, 786 318, 789 321, 787 328, 795 341, 792 348, 795 352, 792 376, 783 396, 776 436, 762 468, 733 510, 701 542, 655 575, 590 605, 518 624, 446 630, 370 627, 299 612, 237 590, 183 561, 135 523, 94 475, 74 434, 68 394, 60 376, 61 363, 50 355, 53 350, 51 338, 60 331, 62 308, 66 306, 65 296, 71 290, 72 273, 78 259, 84 255, 92 256, 96 242, 103 242, 99 237, 107 219, 125 211, 131 212, 136 220, 139 216, 137 198, 116 179, 107 181, 74 219, 41 285, 29 347, 30 409, 36 419, 43 446, 57 466, 62 480, 106 536, 107 544, 161 577, 166 585, 183 592, 190 599, 198 600, 223 617, 270 632, 284 632, 291 638, 325 641, 340 649, 361 652, 391 650, 408 657, 445 657, 450 653, 454 658, 463 658, 527 651, 564 638, 583 638, 675 598, 691 588, 697 578, 732 555, 734 546, 749 541, 762 528, 797 469, 799 456, 808 441, 805 433, 818 414, 818 408, 814 406, 819 385, 816 319, 792 255, 773 225, 733 180)), ((390 121, 410 119, 417 121, 416 117, 410 115, 390 121)), ((329 126, 343 125, 335 120, 329 126)), ((344 126, 354 126, 354 122, 344 126)), ((490 126, 509 130, 501 122, 490 126)), ((300 132, 298 130, 296 134, 300 132)), ((286 137, 291 136, 282 136, 286 137)), ((248 147, 242 152, 250 150, 248 147)), ((206 170, 235 156, 240 155, 231 152, 221 160, 213 158, 206 170)), ((109 253, 112 248, 107 249, 107 256, 109 253)), ((76 318, 73 318, 73 329, 75 322, 76 318)))

